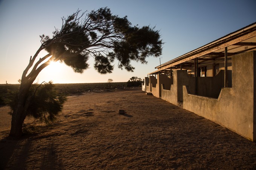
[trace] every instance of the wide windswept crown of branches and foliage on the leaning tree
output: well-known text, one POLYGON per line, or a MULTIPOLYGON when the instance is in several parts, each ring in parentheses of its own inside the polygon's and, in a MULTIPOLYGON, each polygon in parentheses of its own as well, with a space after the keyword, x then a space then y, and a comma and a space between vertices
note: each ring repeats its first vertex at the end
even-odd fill
POLYGON ((75 72, 82 73, 92 56, 94 68, 106 74, 112 72, 115 60, 119 61, 120 69, 133 71, 131 60, 146 63, 146 57, 161 55, 162 40, 154 28, 131 26, 127 16, 112 15, 107 7, 87 14, 79 15, 80 12, 62 18, 62 27, 55 29, 52 38, 40 36, 40 49, 49 52, 50 60, 60 60, 75 72))

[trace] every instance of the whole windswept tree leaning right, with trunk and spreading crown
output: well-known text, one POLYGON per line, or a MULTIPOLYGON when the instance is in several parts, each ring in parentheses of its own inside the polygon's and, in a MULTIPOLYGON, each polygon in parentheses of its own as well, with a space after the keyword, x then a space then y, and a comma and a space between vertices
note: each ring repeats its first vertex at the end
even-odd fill
POLYGON ((89 57, 94 58, 94 68, 101 74, 111 73, 113 63, 133 72, 131 61, 147 63, 148 56, 162 54, 162 40, 158 30, 149 26, 132 26, 127 16, 113 15, 107 7, 91 12, 76 11, 62 18, 62 27, 55 28, 52 37, 41 35, 41 46, 24 70, 20 89, 12 111, 9 136, 18 138, 22 134, 22 125, 30 105, 29 89, 38 74, 50 62, 60 61, 72 67, 74 72, 83 73, 89 66, 89 57), (39 58, 38 54, 47 54, 39 58))

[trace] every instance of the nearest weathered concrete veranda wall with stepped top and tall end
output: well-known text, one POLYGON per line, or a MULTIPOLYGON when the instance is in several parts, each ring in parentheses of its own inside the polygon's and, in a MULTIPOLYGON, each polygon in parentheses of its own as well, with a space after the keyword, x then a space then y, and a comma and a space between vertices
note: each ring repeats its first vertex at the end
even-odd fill
POLYGON ((218 99, 189 94, 183 86, 183 108, 256 141, 256 51, 232 57, 232 88, 218 99))

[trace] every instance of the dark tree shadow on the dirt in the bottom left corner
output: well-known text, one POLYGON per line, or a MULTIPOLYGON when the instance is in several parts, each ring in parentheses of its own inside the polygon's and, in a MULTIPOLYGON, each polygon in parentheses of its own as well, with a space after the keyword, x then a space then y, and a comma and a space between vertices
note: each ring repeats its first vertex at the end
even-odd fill
MULTIPOLYGON (((41 126, 39 126, 40 128, 41 126)), ((8 137, 0 141, 0 169, 26 169, 29 162, 27 158, 34 150, 31 146, 37 140, 42 140, 57 136, 58 134, 41 135, 43 132, 35 134, 24 134, 20 139, 12 140, 8 137)), ((56 157, 56 147, 53 142, 49 142, 46 146, 41 148, 41 164, 39 169, 63 169, 61 162, 56 157)))

